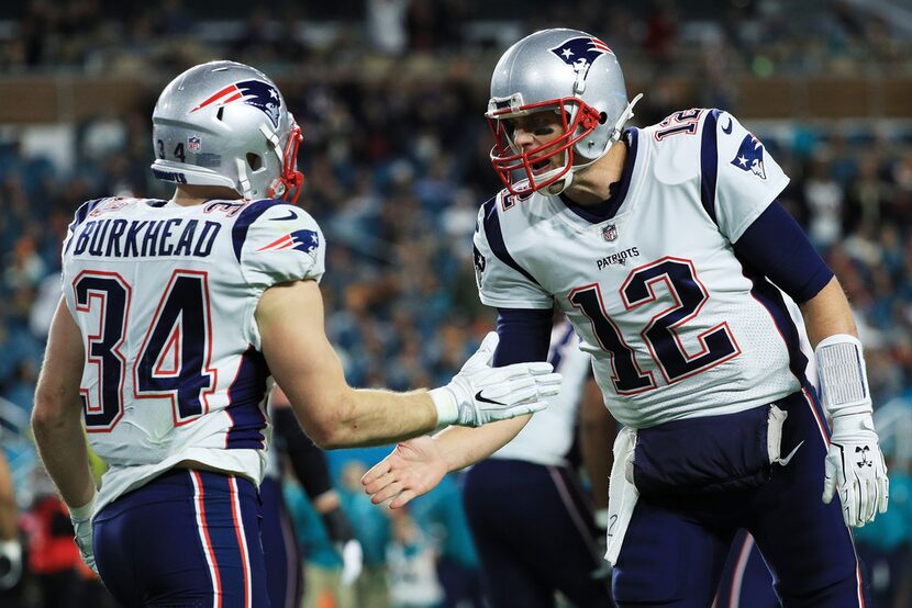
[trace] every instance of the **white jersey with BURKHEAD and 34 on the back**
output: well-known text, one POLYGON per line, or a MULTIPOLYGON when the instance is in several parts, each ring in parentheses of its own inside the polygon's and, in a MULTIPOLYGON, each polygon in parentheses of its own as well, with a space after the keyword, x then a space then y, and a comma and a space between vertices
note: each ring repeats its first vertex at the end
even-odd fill
POLYGON ((276 283, 319 281, 324 251, 314 219, 278 201, 79 209, 63 289, 89 442, 109 465, 97 508, 182 460, 262 481, 271 378, 254 312, 276 283))

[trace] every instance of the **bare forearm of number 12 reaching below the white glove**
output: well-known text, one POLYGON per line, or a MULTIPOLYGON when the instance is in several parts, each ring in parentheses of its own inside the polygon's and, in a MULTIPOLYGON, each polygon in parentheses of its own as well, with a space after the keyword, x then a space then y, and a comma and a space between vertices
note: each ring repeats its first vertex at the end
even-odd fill
POLYGON ((458 471, 485 460, 509 443, 525 427, 532 416, 491 423, 483 427, 447 427, 434 436, 447 471, 458 471))

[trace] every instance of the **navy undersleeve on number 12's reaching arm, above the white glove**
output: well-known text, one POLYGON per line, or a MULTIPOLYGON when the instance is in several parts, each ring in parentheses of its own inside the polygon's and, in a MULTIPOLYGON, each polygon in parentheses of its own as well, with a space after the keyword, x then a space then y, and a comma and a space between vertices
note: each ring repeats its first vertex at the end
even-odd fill
POLYGON ((498 308, 493 365, 547 361, 553 317, 550 308, 498 308))

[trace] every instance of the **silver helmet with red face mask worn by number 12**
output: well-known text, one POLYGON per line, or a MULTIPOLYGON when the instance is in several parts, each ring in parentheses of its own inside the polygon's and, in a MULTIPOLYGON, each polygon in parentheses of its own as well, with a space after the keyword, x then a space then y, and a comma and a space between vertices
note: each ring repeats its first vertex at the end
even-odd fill
POLYGON ((491 77, 485 116, 494 136, 494 171, 513 194, 552 184, 548 191, 559 193, 570 184, 574 171, 601 158, 621 137, 641 97, 627 103, 618 58, 591 34, 567 29, 530 34, 507 49, 491 77), (564 134, 523 150, 504 121, 533 112, 555 112, 564 122, 564 134), (534 170, 561 154, 561 167, 534 170))

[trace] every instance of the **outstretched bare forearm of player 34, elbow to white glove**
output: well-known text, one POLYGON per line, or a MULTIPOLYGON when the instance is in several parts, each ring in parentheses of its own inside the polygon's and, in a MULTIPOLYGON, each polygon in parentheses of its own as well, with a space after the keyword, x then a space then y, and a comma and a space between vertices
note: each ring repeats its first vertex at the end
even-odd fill
POLYGON ((305 424, 304 430, 319 447, 330 450, 394 443, 426 435, 437 426, 436 408, 424 390, 349 389, 341 403, 322 410, 322 416, 305 413, 311 424, 305 424))

